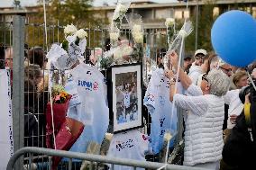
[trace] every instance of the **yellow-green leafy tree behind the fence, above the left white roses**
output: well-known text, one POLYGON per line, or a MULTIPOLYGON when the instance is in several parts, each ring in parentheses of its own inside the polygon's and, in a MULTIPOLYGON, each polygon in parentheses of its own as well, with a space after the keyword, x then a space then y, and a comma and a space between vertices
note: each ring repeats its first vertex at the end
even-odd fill
MULTIPOLYGON (((41 0, 40 13, 30 16, 30 22, 43 23, 43 8, 41 0)), ((49 0, 46 4, 47 24, 53 25, 48 27, 49 44, 53 42, 61 42, 64 39, 63 26, 73 23, 78 29, 83 28, 87 30, 88 36, 92 37, 91 44, 97 46, 101 41, 100 31, 89 31, 91 28, 104 27, 107 21, 99 16, 102 12, 94 12, 92 7, 92 0, 49 0), (59 27, 57 24, 59 23, 59 27)), ((43 28, 34 28, 34 25, 28 26, 27 42, 30 46, 34 46, 34 39, 37 40, 36 45, 44 45, 43 43, 43 28), (34 33, 36 31, 36 33, 34 33), (38 33, 41 32, 41 33, 38 33), (30 39, 32 37, 32 39, 30 39)))

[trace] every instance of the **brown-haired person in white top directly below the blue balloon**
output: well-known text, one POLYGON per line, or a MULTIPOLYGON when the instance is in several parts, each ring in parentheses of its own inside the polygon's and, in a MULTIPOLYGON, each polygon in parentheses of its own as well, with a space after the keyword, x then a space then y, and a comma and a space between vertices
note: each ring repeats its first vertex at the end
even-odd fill
POLYGON ((235 120, 239 116, 243 109, 243 104, 239 98, 240 89, 243 86, 248 85, 248 76, 245 71, 238 71, 233 75, 233 84, 237 87, 235 90, 228 91, 224 95, 224 102, 229 105, 228 109, 228 121, 227 130, 225 130, 225 138, 228 137, 231 130, 235 125, 235 120))

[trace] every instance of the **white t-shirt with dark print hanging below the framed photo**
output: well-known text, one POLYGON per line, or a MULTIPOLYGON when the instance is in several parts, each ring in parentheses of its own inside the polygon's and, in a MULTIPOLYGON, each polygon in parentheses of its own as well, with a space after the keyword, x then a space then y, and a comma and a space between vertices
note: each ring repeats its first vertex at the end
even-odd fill
MULTIPOLYGON (((107 152, 107 157, 145 161, 145 154, 147 152, 151 152, 148 136, 138 130, 130 130, 114 134, 107 152)), ((136 169, 142 170, 142 168, 136 169)), ((114 165, 114 170, 133 170, 133 167, 114 165)))

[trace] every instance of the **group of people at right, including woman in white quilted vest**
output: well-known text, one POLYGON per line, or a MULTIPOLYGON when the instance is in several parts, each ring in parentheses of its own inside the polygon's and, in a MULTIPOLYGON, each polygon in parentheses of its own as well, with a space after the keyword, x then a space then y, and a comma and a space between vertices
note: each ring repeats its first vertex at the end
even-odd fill
POLYGON ((241 150, 246 145, 251 146, 251 150, 245 149, 244 153, 253 155, 255 144, 252 145, 253 140, 245 141, 249 135, 247 130, 234 135, 233 127, 236 123, 242 123, 238 120, 243 116, 244 104, 250 103, 250 94, 245 96, 245 103, 242 103, 239 95, 241 89, 251 83, 247 71, 255 80, 255 63, 248 68, 233 67, 217 55, 207 54, 205 49, 198 49, 194 58, 184 58, 184 67, 178 68, 178 55, 175 52, 169 55, 169 59, 185 89, 184 94, 178 92, 174 72, 166 71, 166 76, 171 80, 170 101, 187 111, 184 115, 183 164, 208 169, 252 167, 253 163, 248 161, 252 160, 251 157, 242 156, 246 158, 239 159, 238 155, 242 154, 241 150), (233 143, 234 140, 236 143, 233 143), (237 154, 237 151, 240 152, 237 154), (231 155, 237 157, 231 158, 231 155))

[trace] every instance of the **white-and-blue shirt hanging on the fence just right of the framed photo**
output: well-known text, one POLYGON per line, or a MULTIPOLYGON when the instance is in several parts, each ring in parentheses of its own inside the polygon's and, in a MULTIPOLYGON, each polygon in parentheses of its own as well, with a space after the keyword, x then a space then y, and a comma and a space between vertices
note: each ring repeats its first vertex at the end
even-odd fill
MULTIPOLYGON (((164 76, 164 70, 161 68, 157 68, 152 73, 151 81, 144 97, 144 105, 151 113, 151 146, 153 153, 157 154, 163 146, 165 132, 169 130, 174 135, 178 121, 177 109, 169 101, 169 79, 164 76)), ((174 139, 171 140, 170 147, 173 144, 174 139)))

